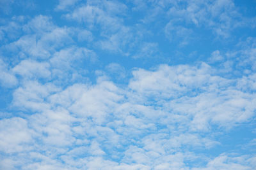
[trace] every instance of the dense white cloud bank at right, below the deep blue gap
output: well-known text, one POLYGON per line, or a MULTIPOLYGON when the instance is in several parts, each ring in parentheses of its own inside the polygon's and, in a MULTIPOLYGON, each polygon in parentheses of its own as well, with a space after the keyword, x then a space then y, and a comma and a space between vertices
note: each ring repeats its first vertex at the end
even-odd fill
POLYGON ((190 130, 208 131, 210 123, 229 128, 252 118, 254 94, 233 86, 237 80, 212 73, 204 64, 199 68, 161 66, 157 71, 134 71, 129 87, 138 92, 142 103, 154 97, 155 104, 172 110, 174 115, 186 115, 190 130))

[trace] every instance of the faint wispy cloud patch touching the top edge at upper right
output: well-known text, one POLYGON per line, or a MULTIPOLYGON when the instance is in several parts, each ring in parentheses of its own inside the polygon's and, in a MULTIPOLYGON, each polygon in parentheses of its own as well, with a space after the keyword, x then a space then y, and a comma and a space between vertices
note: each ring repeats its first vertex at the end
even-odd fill
POLYGON ((243 24, 237 18, 241 17, 232 1, 195 1, 184 2, 185 8, 173 3, 168 11, 170 16, 195 24, 207 26, 218 36, 227 38, 230 31, 243 24))

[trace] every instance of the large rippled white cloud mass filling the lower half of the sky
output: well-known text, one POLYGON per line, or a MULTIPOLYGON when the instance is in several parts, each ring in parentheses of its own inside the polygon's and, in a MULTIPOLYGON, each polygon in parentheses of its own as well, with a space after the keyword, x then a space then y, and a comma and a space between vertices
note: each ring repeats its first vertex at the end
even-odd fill
MULTIPOLYGON (((38 144, 39 139, 44 147, 33 148, 33 152, 44 155, 43 163, 23 162, 24 167, 81 169, 79 162, 84 162, 88 169, 188 169, 185 162, 203 159, 194 150, 221 145, 205 131, 212 131, 214 125, 230 129, 255 112, 255 97, 240 91, 234 83, 239 79, 214 76, 214 70, 204 63, 196 67, 162 65, 133 74, 129 86, 122 89, 100 79, 96 85, 75 84, 64 90, 51 83, 24 83, 13 94, 13 106, 33 114, 18 118, 22 129, 27 129, 21 134, 28 138, 14 140, 10 152, 32 158, 32 148, 18 148, 20 143, 23 147, 31 141, 38 144)), ((15 118, 4 121, 11 120, 15 118)), ((9 125, 11 132, 19 133, 13 130, 14 123, 9 125)), ((249 161, 252 156, 248 157, 249 161)), ((223 159, 227 157, 216 157, 205 168, 253 166, 244 163, 247 160, 223 163, 223 159)))

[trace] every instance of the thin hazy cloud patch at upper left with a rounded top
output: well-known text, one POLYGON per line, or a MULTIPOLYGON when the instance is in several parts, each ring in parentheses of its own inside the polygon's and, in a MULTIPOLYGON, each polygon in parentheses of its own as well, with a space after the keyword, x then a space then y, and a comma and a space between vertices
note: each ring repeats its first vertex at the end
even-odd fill
POLYGON ((26 34, 17 41, 4 46, 18 57, 49 59, 58 48, 72 43, 72 31, 67 27, 56 27, 49 17, 39 15, 24 26, 26 34))

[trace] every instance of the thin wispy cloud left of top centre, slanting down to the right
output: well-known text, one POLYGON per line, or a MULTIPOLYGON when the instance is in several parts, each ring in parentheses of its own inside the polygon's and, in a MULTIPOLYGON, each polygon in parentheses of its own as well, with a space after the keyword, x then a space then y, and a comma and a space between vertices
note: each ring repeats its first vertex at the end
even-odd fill
MULTIPOLYGON (((110 52, 131 55, 132 49, 136 47, 136 43, 138 43, 137 41, 141 38, 143 32, 136 27, 124 24, 124 19, 120 17, 125 16, 127 7, 124 4, 111 1, 99 2, 89 1, 84 6, 67 13, 65 17, 68 20, 76 20, 82 25, 85 24, 86 29, 99 34, 98 38, 94 39, 96 46, 110 52)), ((79 34, 81 34, 80 41, 83 36, 86 39, 92 37, 88 35, 87 31, 84 32, 85 35, 83 32, 79 34)))

